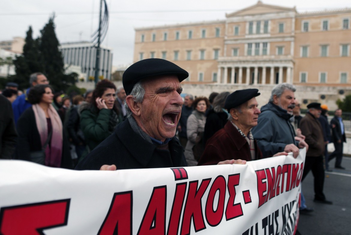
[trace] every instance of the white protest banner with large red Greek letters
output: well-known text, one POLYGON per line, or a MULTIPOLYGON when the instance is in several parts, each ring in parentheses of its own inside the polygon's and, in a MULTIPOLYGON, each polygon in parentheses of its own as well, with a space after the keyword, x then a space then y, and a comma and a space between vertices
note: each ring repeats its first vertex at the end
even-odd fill
POLYGON ((295 234, 305 154, 117 171, 1 160, 0 234, 295 234))

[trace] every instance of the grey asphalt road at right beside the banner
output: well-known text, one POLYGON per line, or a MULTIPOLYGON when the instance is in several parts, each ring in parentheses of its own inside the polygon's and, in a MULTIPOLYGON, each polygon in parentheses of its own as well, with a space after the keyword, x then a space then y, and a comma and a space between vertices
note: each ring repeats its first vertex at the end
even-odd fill
POLYGON ((298 230, 302 235, 350 235, 351 234, 351 157, 343 157, 345 170, 333 168, 335 159, 329 162, 332 172, 325 172, 324 194, 332 205, 313 202, 313 175, 310 171, 302 183, 307 207, 314 212, 300 214, 298 230))

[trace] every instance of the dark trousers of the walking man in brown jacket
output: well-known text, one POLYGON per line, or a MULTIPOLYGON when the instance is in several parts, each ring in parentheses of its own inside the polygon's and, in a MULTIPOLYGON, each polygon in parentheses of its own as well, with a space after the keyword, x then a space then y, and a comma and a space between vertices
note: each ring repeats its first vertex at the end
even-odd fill
POLYGON ((305 179, 306 175, 312 170, 314 177, 314 199, 325 200, 325 195, 323 193, 324 186, 324 166, 323 166, 323 156, 310 157, 306 156, 304 173, 302 174, 302 181, 305 179))

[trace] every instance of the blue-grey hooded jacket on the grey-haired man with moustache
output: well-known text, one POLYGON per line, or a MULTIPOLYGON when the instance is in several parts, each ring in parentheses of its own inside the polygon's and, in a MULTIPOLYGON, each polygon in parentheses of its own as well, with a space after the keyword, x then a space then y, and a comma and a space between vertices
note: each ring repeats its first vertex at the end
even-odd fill
POLYGON ((291 125, 292 115, 285 109, 269 102, 261 108, 258 116, 258 125, 251 132, 263 157, 271 157, 276 153, 283 152, 286 145, 295 141, 294 128, 291 125))

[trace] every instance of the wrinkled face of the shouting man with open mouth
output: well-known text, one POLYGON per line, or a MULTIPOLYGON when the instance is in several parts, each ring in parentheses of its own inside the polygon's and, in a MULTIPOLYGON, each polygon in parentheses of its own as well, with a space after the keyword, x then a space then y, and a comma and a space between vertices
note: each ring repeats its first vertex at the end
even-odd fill
MULTIPOLYGON (((140 104, 140 128, 151 137, 165 141, 176 134, 183 99, 177 76, 167 75, 143 82, 145 96, 140 104)), ((139 124, 139 123, 138 123, 139 124)))

